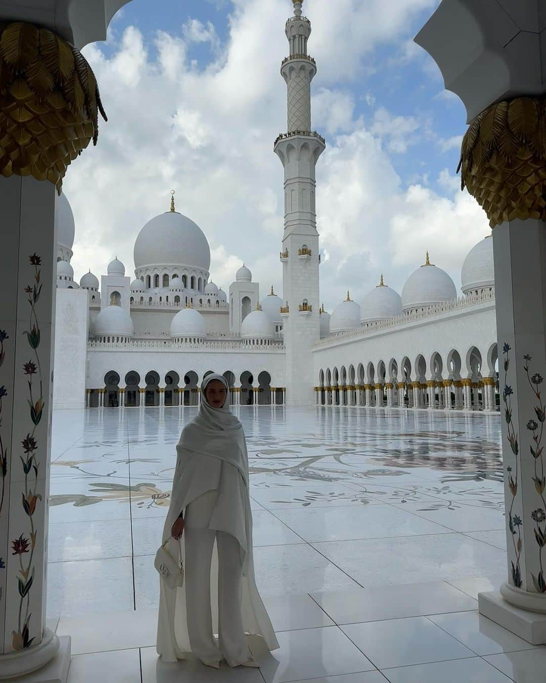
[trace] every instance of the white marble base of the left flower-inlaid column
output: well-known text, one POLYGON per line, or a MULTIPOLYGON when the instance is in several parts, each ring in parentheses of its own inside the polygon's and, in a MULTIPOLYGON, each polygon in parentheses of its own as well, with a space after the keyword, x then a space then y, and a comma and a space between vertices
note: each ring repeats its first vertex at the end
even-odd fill
POLYGON ((42 642, 25 652, 0 655, 0 680, 17 683, 66 683, 70 667, 70 636, 60 638, 46 628, 42 642))

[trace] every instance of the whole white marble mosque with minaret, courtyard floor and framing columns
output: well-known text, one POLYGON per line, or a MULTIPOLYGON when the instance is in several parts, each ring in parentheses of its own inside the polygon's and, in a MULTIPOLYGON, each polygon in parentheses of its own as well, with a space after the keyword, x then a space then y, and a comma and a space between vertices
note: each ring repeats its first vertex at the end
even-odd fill
POLYGON ((78 226, 58 191, 96 141, 98 108, 78 50, 126 1, 0 3, 0 74, 17 83, 0 97, 0 287, 13 293, 0 302, 0 680, 543 683, 540 0, 442 0, 416 37, 465 104, 461 173, 492 227, 461 264, 461 296, 430 245, 400 293, 386 264, 362 301, 347 282, 331 314, 315 217, 328 151, 311 128, 317 66, 298 0, 274 141, 283 291, 260 288, 248 263, 214 283, 205 233, 175 195, 143 217, 133 279, 119 254, 100 281, 74 280, 78 226), (69 106, 51 54, 52 94, 33 100, 25 68, 2 61, 6 31, 20 65, 25 41, 38 62, 51 36, 72 51, 85 107, 69 106), (210 371, 229 380, 248 438, 257 585, 281 645, 252 639, 259 668, 167 664, 155 647, 175 443, 210 371))

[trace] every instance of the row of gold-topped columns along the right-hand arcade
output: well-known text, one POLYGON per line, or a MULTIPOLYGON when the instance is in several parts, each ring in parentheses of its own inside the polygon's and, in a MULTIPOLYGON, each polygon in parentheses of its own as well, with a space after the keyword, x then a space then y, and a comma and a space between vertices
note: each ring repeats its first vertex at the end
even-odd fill
POLYGON ((336 384, 315 387, 315 404, 428 410, 498 410, 497 385, 495 377, 484 377, 478 382, 465 378, 362 385, 336 384))

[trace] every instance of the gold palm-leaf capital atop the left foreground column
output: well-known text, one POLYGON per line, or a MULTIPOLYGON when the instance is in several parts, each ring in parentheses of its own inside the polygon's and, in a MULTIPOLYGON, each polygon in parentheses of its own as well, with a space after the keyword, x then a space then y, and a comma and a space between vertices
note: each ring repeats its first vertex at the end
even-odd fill
POLYGON ((0 23, 0 173, 49 180, 106 121, 95 76, 74 45, 32 24, 0 23))

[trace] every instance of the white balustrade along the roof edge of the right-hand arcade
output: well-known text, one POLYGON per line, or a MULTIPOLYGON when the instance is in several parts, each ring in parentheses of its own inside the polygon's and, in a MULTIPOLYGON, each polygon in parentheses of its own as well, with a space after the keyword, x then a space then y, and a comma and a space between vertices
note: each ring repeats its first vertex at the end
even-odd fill
POLYGON ((328 346, 341 342, 343 339, 358 339, 360 337, 367 337, 371 333, 379 330, 391 329, 392 327, 399 327, 414 322, 414 320, 424 320, 425 318, 434 318, 440 316, 442 313, 449 313, 450 311, 457 311, 460 309, 470 308, 480 303, 489 303, 495 301, 495 291, 483 292, 483 294, 469 294, 468 296, 461 296, 460 298, 446 301, 445 303, 428 306, 420 311, 411 311, 409 313, 402 313, 396 318, 386 318, 386 320, 378 320, 377 322, 369 322, 361 327, 356 327, 345 332, 334 332, 319 339, 313 344, 313 348, 321 346, 328 346))

